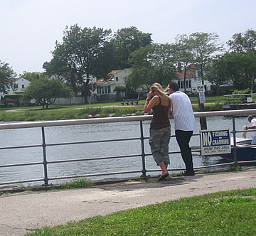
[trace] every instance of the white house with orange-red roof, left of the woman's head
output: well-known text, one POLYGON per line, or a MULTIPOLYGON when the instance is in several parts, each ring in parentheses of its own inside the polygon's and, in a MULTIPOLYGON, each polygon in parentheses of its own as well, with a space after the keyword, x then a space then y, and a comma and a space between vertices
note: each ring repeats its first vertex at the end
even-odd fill
POLYGON ((114 91, 114 88, 117 85, 125 87, 125 79, 130 75, 130 73, 131 69, 128 68, 123 70, 112 70, 107 75, 107 80, 104 78, 97 80, 97 100, 106 101, 115 99, 117 92, 114 91))

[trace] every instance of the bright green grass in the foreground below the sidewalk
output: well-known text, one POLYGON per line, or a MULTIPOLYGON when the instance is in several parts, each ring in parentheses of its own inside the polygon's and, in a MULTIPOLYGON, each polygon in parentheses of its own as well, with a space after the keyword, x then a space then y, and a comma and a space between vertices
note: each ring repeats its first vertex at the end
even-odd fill
POLYGON ((171 200, 27 235, 256 235, 256 188, 171 200))

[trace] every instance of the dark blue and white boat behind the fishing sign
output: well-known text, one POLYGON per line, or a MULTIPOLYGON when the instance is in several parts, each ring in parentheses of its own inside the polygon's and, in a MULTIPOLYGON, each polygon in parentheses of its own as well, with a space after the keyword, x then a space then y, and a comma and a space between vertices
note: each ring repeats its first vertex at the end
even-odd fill
MULTIPOLYGON (((256 161, 256 145, 251 145, 252 139, 236 138, 237 161, 256 161)), ((223 159, 234 161, 233 139, 231 139, 231 153, 220 154, 223 159)))

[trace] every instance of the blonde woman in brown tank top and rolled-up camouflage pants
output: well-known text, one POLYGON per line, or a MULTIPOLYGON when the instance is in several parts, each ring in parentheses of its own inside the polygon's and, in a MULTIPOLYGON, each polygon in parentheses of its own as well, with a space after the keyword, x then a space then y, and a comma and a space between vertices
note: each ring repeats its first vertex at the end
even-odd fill
POLYGON ((171 126, 168 115, 171 114, 171 97, 166 95, 159 83, 150 87, 144 105, 144 112, 153 110, 153 118, 150 123, 149 145, 157 165, 161 167, 159 181, 169 176, 167 166, 169 159, 169 141, 171 137, 171 126))

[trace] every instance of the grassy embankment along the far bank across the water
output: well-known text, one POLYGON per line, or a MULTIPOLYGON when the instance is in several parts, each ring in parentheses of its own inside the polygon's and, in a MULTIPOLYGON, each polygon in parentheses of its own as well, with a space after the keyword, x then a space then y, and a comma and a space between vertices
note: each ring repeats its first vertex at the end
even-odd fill
MULTIPOLYGON (((206 97, 206 111, 220 110, 223 97, 206 97)), ((121 102, 97 104, 51 105, 49 109, 41 107, 11 107, 0 109, 0 121, 35 121, 53 119, 84 119, 89 117, 119 117, 127 114, 143 114, 144 100, 138 106, 121 105, 121 102), (118 106, 118 107, 116 107, 118 106)), ((198 110, 197 97, 191 97, 193 109, 198 110)))

